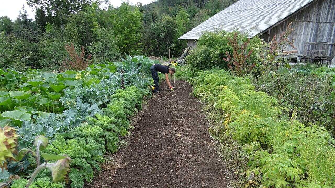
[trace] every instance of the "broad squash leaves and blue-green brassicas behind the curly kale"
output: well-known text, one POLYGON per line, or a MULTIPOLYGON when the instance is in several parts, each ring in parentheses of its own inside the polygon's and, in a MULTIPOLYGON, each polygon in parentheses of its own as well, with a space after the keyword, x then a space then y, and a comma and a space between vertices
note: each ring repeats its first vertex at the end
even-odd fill
POLYGON ((152 63, 149 58, 127 56, 122 62, 58 74, 0 70, 4 85, 16 84, 15 90, 0 92, 0 122, 18 129, 21 145, 32 146, 37 135, 52 138, 93 116, 121 87, 122 77, 125 86, 146 88, 151 83, 147 74, 152 63))

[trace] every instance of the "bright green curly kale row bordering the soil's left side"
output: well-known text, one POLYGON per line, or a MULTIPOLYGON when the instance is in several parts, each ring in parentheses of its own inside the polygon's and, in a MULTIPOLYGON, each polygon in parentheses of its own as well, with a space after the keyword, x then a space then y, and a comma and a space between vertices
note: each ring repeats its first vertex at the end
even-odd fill
MULTIPOLYGON (((104 161, 103 155, 107 151, 111 153, 118 151, 119 136, 128 133, 128 118, 134 115, 135 111, 142 109, 142 99, 146 92, 134 86, 118 89, 111 95, 111 101, 106 108, 96 113, 94 117, 86 117, 80 126, 71 131, 73 137, 55 134, 55 139, 43 152, 65 154, 72 159, 69 173, 70 187, 82 188, 84 181, 91 182, 93 169, 101 170, 98 163, 104 161)), ((40 178, 51 176, 48 170, 45 171, 40 178)), ((23 188, 25 185, 25 180, 15 180, 11 188, 23 188)))

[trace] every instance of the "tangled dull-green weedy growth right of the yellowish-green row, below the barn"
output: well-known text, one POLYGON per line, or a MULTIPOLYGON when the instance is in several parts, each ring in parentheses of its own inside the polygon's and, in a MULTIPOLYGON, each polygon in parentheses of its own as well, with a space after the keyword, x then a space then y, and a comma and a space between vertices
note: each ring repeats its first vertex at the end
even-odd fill
MULTIPOLYGON (((285 68, 286 69, 286 68, 285 68)), ((299 74, 296 71, 265 71, 253 80, 256 90, 263 91, 278 99, 288 109, 286 115, 296 113, 304 124, 309 122, 323 125, 335 133, 333 77, 319 77, 299 74)))

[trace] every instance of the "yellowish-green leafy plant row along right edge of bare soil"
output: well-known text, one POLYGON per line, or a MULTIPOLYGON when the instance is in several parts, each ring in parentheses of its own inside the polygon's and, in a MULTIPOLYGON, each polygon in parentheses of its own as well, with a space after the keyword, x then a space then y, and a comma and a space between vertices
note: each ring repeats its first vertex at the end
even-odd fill
POLYGON ((226 119, 219 127, 250 154, 248 174, 265 187, 329 188, 335 185, 335 140, 324 128, 281 116, 273 96, 254 91, 248 77, 225 70, 199 71, 194 95, 213 103, 226 119), (257 178, 259 177, 259 178, 257 178))

